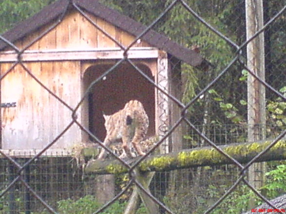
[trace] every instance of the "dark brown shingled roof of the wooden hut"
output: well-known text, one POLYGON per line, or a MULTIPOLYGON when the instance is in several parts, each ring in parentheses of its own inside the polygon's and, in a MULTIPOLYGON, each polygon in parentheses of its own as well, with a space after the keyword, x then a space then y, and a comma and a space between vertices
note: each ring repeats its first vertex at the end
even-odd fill
MULTIPOLYGON (((75 0, 75 2, 82 9, 88 11, 94 16, 98 16, 132 35, 137 36, 146 29, 146 26, 141 23, 100 4, 97 0, 75 0)), ((11 42, 15 42, 60 16, 67 4, 69 4, 69 0, 58 0, 43 8, 35 16, 22 21, 2 36, 11 42)), ((172 56, 175 56, 179 60, 192 66, 204 66, 202 64, 206 63, 206 61, 196 51, 182 47, 178 43, 170 40, 167 36, 153 30, 148 31, 142 37, 142 40, 158 49, 166 51, 172 56)), ((7 44, 0 40, 0 50, 6 46, 7 44)))

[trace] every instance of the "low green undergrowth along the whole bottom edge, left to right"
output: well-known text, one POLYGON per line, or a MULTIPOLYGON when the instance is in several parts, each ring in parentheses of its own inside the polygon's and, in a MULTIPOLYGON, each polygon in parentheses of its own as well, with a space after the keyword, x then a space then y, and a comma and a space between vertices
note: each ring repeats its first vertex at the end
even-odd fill
MULTIPOLYGON (((273 166, 272 170, 266 173, 266 184, 260 189, 268 199, 276 198, 286 192, 286 165, 284 162, 271 162, 273 166), (275 164, 276 163, 276 164, 275 164)), ((222 184, 223 181, 219 181, 217 178, 220 176, 226 176, 221 169, 213 170, 209 166, 203 167, 202 173, 210 173, 210 178, 207 186, 202 186, 201 190, 204 191, 203 195, 197 195, 193 192, 194 187, 179 188, 175 195, 167 194, 162 198, 162 202, 168 206, 176 214, 193 213, 200 214, 206 211, 212 206, 232 185, 231 181, 222 184)), ((229 213, 229 214, 241 214, 248 211, 248 204, 250 198, 255 198, 257 206, 264 203, 258 198, 250 188, 241 182, 235 190, 225 198, 221 204, 213 211, 214 214, 229 213)), ((122 214, 125 209, 127 198, 115 201, 109 206, 102 214, 122 214)), ((8 213, 8 205, 0 201, 0 214, 8 213)), ((18 205, 24 207, 23 201, 18 200, 18 205)), ((91 214, 102 205, 97 202, 96 198, 92 195, 87 195, 79 199, 64 199, 57 202, 55 210, 60 214, 91 214)), ((22 212, 24 213, 24 212, 22 212)), ((19 214, 22 214, 19 213, 19 214)), ((32 214, 49 214, 48 211, 38 211, 32 214)), ((147 214, 143 204, 137 210, 136 214, 147 214)))

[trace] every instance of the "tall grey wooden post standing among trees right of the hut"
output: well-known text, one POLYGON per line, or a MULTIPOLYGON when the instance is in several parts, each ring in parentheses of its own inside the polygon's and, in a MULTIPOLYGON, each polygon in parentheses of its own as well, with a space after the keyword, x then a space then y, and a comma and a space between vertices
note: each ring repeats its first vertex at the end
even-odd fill
MULTIPOLYGON (((263 27, 263 0, 246 0, 247 39, 263 27)), ((247 45, 247 66, 265 80, 264 33, 260 33, 247 45)), ((265 139, 266 112, 265 87, 248 75, 248 140, 265 139)), ((264 163, 256 163, 249 168, 249 182, 256 189, 263 185, 264 163)), ((254 204, 250 201, 250 207, 254 204)))

